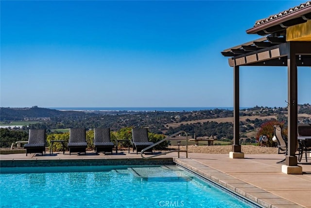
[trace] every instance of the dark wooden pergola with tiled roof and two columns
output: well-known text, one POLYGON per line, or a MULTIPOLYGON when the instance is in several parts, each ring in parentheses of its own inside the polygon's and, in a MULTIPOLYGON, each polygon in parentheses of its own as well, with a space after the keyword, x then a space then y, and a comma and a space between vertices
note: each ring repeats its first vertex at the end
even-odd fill
MULTIPOLYGON (((302 174, 298 166, 297 140, 297 66, 311 66, 311 1, 256 21, 247 34, 262 38, 231 47, 222 52, 234 73, 234 143, 231 158, 244 158, 239 144, 239 69, 240 66, 287 66, 288 68, 288 155, 282 172, 302 174)), ((311 78, 311 77, 310 77, 311 78)), ((310 89, 306 89, 310 91, 310 89)))

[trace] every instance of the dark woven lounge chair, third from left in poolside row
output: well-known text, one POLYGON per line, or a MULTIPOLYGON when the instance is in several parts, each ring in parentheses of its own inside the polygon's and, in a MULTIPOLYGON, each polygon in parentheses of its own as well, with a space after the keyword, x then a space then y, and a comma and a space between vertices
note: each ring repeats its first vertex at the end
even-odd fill
POLYGON ((110 128, 95 128, 94 129, 94 147, 95 152, 100 151, 111 152, 115 147, 114 143, 110 139, 110 128))

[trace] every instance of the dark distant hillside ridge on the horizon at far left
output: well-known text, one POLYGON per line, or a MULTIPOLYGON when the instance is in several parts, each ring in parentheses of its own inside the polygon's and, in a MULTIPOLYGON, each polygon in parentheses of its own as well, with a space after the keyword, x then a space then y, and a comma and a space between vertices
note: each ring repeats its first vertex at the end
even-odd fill
POLYGON ((86 113, 77 111, 57 111, 47 108, 0 108, 0 121, 5 120, 49 120, 51 117, 83 116, 86 113))

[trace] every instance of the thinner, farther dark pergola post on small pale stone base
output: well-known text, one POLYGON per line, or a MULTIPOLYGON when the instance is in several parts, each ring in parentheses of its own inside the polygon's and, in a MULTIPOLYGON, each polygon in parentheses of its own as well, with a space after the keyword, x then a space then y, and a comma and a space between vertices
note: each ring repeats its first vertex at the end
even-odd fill
POLYGON ((233 103, 233 145, 230 158, 244 158, 240 145, 240 71, 239 66, 233 67, 234 103, 233 103))

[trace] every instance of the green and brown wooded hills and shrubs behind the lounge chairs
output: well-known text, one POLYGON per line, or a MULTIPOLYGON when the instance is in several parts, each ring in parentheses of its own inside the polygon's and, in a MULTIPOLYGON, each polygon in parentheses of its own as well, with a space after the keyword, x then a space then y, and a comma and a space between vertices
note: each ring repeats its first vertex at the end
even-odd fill
MULTIPOLYGON (((298 110, 299 113, 311 114, 311 105, 298 105, 298 110)), ((11 131, 8 132, 1 129, 0 147, 10 147, 11 144, 17 140, 27 140, 28 129, 46 129, 48 136, 51 134, 57 137, 59 134, 61 137, 66 136, 66 132, 69 132, 69 128, 81 127, 89 131, 94 128, 109 127, 112 131, 112 140, 130 139, 132 127, 147 127, 150 132, 150 138, 153 141, 181 130, 188 132, 190 137, 193 137, 194 133, 196 133, 197 136, 214 135, 218 141, 227 143, 232 143, 233 139, 232 122, 216 122, 213 120, 225 119, 233 116, 233 111, 225 109, 193 112, 123 111, 85 113, 77 111, 57 111, 34 106, 32 108, 18 109, 0 108, 0 113, 1 125, 26 125, 22 129, 14 130, 17 132, 16 135, 11 131)), ((264 123, 276 122, 282 123, 284 127, 287 126, 287 108, 256 106, 254 108, 241 110, 240 116, 249 116, 249 118, 242 119, 239 124, 241 144, 256 142, 259 137, 257 135, 258 131, 268 131, 261 130, 264 123)), ((311 122, 310 116, 303 115, 299 118, 299 122, 311 122)), ((269 134, 269 132, 265 134, 269 134)), ((270 133, 269 136, 270 135, 272 134, 270 133)), ((271 139, 272 136, 269 138, 271 139)), ((92 142, 90 141, 89 143, 89 148, 92 148, 92 142)), ((273 145, 273 143, 271 143, 271 145, 273 145)), ((167 146, 167 144, 164 146, 167 146)))

